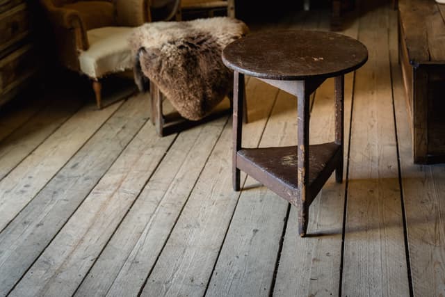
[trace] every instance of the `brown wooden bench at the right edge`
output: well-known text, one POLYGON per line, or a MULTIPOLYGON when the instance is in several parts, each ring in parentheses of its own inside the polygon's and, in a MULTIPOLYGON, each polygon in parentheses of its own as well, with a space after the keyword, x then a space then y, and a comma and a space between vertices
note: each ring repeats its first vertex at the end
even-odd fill
POLYGON ((445 5, 399 0, 399 60, 414 163, 445 162, 445 5))

